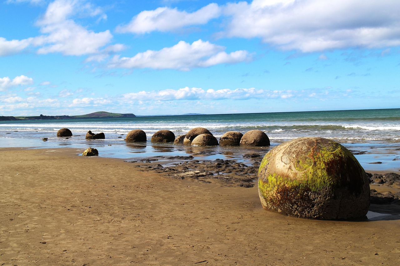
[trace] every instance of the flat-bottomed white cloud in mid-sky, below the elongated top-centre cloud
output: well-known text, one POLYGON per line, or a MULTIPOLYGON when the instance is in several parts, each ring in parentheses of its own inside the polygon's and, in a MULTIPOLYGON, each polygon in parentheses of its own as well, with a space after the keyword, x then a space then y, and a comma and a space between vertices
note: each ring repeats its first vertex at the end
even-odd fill
POLYGON ((198 40, 189 44, 184 41, 159 51, 148 50, 134 57, 115 56, 110 68, 153 68, 188 71, 194 67, 208 67, 217 64, 235 64, 252 60, 247 51, 224 52, 223 46, 198 40))

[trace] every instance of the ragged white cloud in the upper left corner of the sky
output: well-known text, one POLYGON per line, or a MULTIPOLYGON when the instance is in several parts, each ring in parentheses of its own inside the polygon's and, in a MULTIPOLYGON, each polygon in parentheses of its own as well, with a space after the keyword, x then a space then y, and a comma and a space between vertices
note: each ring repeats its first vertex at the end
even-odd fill
POLYGON ((6 40, 0 37, 0 56, 17 54, 28 47, 38 47, 38 54, 58 52, 72 56, 107 54, 120 51, 124 47, 122 44, 107 46, 113 38, 109 30, 88 30, 77 24, 73 20, 74 16, 96 16, 98 20, 107 18, 100 8, 86 0, 55 0, 48 4, 42 18, 36 22, 42 35, 24 40, 6 40))

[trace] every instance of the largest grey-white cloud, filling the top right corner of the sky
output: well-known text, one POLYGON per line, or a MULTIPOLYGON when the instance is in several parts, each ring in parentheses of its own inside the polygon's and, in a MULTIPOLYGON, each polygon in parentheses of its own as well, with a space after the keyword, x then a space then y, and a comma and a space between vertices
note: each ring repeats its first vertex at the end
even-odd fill
POLYGON ((222 36, 261 38, 283 50, 316 52, 400 45, 396 0, 254 0, 227 4, 222 36))

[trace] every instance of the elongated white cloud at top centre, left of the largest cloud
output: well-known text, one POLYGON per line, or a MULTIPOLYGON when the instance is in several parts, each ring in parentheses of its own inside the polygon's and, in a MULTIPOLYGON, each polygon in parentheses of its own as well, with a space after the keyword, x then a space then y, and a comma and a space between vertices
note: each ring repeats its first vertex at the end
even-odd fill
POLYGON ((134 16, 131 22, 116 28, 118 32, 145 34, 152 31, 166 32, 185 26, 206 24, 209 20, 220 16, 221 8, 208 4, 203 8, 188 13, 176 8, 160 7, 156 10, 145 10, 134 16))

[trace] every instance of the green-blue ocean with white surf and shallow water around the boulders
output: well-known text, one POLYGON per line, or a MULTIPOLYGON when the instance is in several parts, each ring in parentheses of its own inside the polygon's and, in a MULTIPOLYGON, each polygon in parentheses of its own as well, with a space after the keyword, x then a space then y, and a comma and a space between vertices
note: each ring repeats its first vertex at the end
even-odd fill
POLYGON ((168 129, 178 137, 194 127, 204 127, 217 139, 227 131, 246 133, 259 129, 270 138, 270 147, 248 150, 242 147, 206 147, 202 149, 211 151, 213 155, 205 159, 266 153, 272 147, 298 137, 324 137, 352 150, 366 169, 400 169, 399 122, 400 109, 0 121, 0 147, 70 147, 77 149, 77 154, 87 147, 95 147, 99 156, 134 159, 198 153, 199 148, 150 143, 152 135, 161 129, 168 129), (73 136, 69 139, 56 137, 56 132, 62 127, 70 129, 73 136), (126 144, 125 135, 132 129, 145 131, 147 143, 126 144), (88 130, 104 132, 106 139, 85 140, 88 130), (42 141, 44 137, 48 141, 42 141))

